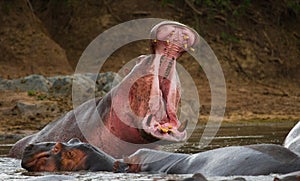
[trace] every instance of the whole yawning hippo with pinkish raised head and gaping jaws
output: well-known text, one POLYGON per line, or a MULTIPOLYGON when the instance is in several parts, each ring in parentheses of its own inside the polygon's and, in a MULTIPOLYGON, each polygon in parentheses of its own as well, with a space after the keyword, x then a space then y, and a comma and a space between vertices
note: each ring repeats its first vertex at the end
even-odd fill
POLYGON ((8 156, 21 158, 24 148, 32 143, 67 142, 74 137, 115 158, 142 147, 156 148, 159 140, 186 140, 187 120, 180 122, 176 115, 181 98, 176 60, 193 49, 199 35, 173 21, 155 25, 150 33, 152 55, 139 57, 130 73, 110 92, 19 140, 8 156), (82 129, 88 133, 84 135, 82 129))

